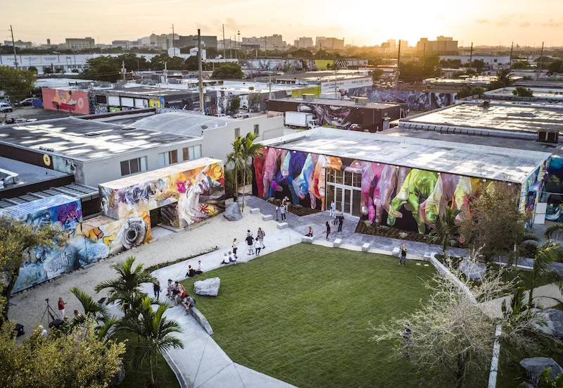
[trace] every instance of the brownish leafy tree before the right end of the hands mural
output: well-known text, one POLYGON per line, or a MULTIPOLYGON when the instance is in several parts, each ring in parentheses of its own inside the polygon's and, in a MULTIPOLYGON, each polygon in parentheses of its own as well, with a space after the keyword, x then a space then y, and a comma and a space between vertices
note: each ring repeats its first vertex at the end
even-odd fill
POLYGON ((483 246, 481 254, 490 263, 510 256, 526 234, 526 214, 519 211, 520 196, 515 186, 493 182, 472 199, 471 217, 462 222, 462 235, 468 244, 483 246))

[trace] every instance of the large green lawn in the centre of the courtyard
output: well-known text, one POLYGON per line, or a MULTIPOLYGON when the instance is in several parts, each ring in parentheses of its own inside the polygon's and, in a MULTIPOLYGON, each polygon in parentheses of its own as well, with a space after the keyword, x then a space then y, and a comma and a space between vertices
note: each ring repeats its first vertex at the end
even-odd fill
POLYGON ((213 338, 236 363, 308 387, 417 387, 416 370, 369 342, 378 325, 429 296, 434 267, 391 256, 298 244, 183 282, 220 277, 197 296, 213 338))

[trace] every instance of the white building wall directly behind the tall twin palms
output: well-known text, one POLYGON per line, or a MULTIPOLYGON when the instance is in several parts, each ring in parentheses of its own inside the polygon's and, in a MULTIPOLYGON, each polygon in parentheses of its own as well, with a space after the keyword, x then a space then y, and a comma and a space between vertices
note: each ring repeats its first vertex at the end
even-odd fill
POLYGON ((227 154, 232 151, 235 129, 240 128, 240 135, 246 136, 248 132, 254 132, 254 125, 258 124, 260 136, 255 142, 262 142, 265 139, 272 139, 284 134, 284 117, 267 118, 267 115, 260 115, 255 118, 246 118, 229 122, 227 127, 209 128, 203 130, 203 145, 201 146, 201 156, 227 160, 227 154))

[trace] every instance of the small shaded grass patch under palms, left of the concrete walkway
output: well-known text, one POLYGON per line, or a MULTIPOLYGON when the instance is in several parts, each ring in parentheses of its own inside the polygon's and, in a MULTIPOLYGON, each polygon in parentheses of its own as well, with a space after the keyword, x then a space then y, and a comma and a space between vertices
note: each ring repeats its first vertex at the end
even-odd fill
MULTIPOLYGON (((123 341, 127 339, 125 347, 125 356, 123 363, 125 364, 125 380, 120 384, 120 388, 142 388, 146 386, 151 370, 148 368, 148 363, 144 363, 141 368, 135 368, 132 365, 132 346, 137 343, 137 336, 135 334, 129 334, 124 332, 115 333, 115 339, 118 341, 123 341)), ((185 346, 185 345, 184 345, 185 346)), ((176 375, 168 366, 168 363, 163 356, 158 356, 156 362, 156 369, 154 371, 155 378, 160 380, 162 384, 160 387, 163 388, 179 388, 178 380, 176 375)))

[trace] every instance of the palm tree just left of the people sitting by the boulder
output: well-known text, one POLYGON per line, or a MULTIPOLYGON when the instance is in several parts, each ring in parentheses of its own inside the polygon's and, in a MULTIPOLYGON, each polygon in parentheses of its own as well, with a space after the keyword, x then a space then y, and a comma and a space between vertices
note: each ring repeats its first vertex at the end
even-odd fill
POLYGON ((146 296, 139 289, 141 283, 156 282, 155 277, 144 269, 143 263, 133 268, 134 262, 135 257, 129 256, 125 261, 113 264, 111 268, 118 271, 119 277, 101 282, 94 289, 96 292, 109 289, 108 303, 120 301, 124 313, 129 309, 136 311, 141 306, 141 299, 146 296))

